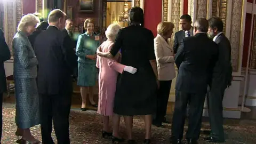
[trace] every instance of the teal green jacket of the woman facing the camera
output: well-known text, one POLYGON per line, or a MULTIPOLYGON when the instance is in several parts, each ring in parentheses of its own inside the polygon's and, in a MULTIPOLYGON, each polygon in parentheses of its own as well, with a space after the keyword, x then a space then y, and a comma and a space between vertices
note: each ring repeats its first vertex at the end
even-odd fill
POLYGON ((95 40, 95 36, 93 34, 93 39, 90 37, 87 32, 78 36, 77 45, 76 45, 76 55, 78 57, 78 62, 81 63, 92 63, 95 64, 95 60, 87 59, 86 55, 96 54, 97 48, 100 45, 100 41, 95 40))

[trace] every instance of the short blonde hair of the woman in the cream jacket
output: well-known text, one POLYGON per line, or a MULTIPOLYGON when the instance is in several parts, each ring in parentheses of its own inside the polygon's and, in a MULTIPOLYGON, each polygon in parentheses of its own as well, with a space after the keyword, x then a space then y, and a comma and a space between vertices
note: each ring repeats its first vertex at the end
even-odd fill
POLYGON ((174 24, 172 22, 160 22, 157 25, 157 34, 161 36, 166 36, 170 31, 174 28, 174 24))

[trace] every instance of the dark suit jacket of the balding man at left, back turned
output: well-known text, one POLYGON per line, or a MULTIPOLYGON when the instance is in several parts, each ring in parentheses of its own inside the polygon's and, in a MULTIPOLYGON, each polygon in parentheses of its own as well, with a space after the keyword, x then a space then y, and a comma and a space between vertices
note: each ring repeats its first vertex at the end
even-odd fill
POLYGON ((72 92, 71 75, 76 65, 75 53, 57 27, 49 26, 36 37, 38 60, 38 93, 62 94, 72 92))

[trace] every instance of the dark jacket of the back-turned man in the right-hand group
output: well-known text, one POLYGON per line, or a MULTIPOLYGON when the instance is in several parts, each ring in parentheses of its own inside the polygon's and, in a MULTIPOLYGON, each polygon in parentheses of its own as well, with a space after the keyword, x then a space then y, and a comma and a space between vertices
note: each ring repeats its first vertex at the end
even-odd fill
POLYGON ((206 92, 217 54, 218 45, 204 33, 183 38, 175 55, 179 69, 175 89, 187 93, 206 92))

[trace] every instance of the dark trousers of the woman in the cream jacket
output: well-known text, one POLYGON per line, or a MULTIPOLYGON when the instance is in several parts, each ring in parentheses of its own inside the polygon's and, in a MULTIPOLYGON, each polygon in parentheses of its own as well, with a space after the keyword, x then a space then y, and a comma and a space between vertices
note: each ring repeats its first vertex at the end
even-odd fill
POLYGON ((157 91, 157 108, 154 116, 155 123, 162 124, 165 121, 167 103, 171 90, 172 81, 159 81, 159 90, 157 91))

